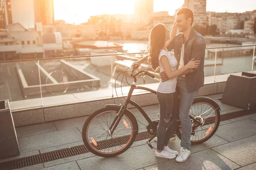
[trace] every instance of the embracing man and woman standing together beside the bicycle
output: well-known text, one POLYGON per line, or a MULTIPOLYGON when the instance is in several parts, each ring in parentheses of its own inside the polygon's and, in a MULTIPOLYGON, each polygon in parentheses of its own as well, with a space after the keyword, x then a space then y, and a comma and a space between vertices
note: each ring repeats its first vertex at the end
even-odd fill
POLYGON ((148 55, 134 64, 149 62, 153 70, 160 69, 161 81, 157 88, 160 121, 157 127, 155 156, 186 161, 190 156, 191 121, 189 110, 204 85, 204 55, 206 43, 193 28, 194 14, 189 8, 177 11, 172 32, 157 24, 149 35, 148 55), (177 29, 180 34, 176 35, 177 29), (174 56, 169 51, 174 50, 174 56), (179 98, 179 99, 178 99, 179 98), (172 116, 172 122, 170 122, 172 116), (181 122, 182 133, 179 152, 167 145, 181 122))

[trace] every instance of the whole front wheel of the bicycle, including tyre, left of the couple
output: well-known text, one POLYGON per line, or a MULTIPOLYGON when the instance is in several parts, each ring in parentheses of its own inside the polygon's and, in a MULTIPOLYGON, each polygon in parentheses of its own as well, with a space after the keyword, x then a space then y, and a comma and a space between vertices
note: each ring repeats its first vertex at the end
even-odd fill
POLYGON ((102 157, 117 156, 133 144, 138 133, 138 124, 128 110, 111 134, 110 126, 119 110, 120 108, 116 107, 101 108, 85 121, 82 138, 91 153, 102 157))

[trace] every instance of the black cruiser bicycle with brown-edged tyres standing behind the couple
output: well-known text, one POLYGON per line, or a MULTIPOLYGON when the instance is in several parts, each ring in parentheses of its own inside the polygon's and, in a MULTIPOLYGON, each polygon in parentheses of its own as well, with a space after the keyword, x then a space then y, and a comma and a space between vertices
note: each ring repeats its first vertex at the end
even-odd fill
MULTIPOLYGON (((134 89, 141 89, 154 94, 157 93, 149 88, 136 86, 136 77, 138 75, 148 75, 151 78, 154 78, 154 75, 144 70, 136 73, 134 72, 136 68, 137 65, 130 71, 131 77, 134 78, 134 82, 131 84, 131 88, 124 104, 105 105, 104 108, 92 113, 84 122, 82 129, 84 145, 91 153, 97 156, 117 156, 124 153, 133 144, 135 137, 138 134, 138 123, 133 113, 127 109, 128 104, 135 106, 147 120, 147 132, 152 135, 151 138, 148 139, 147 144, 152 149, 154 148, 150 142, 157 134, 159 119, 151 120, 143 108, 131 100, 131 95, 134 89)), ((192 122, 192 144, 206 142, 214 135, 220 123, 220 110, 220 107, 213 99, 204 96, 195 97, 189 114, 192 122)), ((181 124, 179 122, 175 135, 181 139, 181 133, 181 124)))

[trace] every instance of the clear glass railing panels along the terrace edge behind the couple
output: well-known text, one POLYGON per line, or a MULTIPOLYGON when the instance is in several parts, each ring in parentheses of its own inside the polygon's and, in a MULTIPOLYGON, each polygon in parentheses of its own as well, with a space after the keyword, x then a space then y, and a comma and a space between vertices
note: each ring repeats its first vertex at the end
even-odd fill
MULTIPOLYGON (((124 71, 145 55, 141 52, 1 61, 0 100, 9 99, 12 109, 20 109, 122 96, 133 82, 131 72, 126 76, 124 71)), ((215 81, 221 74, 253 71, 254 56, 253 45, 207 48, 205 77, 214 76, 215 81)), ((138 85, 150 86, 160 81, 150 63, 142 64, 140 69, 150 71, 155 79, 141 77, 138 85)))

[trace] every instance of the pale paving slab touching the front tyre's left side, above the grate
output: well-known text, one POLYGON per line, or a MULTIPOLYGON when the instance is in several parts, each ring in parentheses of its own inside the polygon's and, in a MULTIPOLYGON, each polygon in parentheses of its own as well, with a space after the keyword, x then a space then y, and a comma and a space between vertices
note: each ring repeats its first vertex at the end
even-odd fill
POLYGON ((18 139, 20 153, 81 141, 77 128, 18 139))

